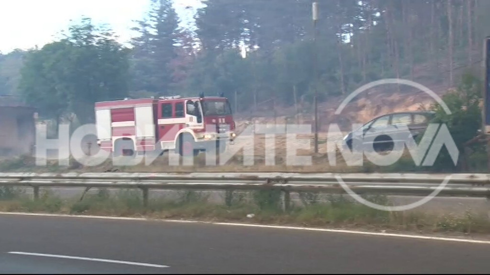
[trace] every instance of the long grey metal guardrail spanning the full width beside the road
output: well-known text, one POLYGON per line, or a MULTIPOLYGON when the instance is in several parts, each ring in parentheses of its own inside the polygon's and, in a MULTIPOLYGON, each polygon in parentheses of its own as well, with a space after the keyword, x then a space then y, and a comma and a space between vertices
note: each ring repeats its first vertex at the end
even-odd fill
POLYGON ((438 196, 490 197, 490 174, 384 173, 0 173, 0 186, 138 188, 143 204, 148 191, 160 190, 280 190, 344 194, 337 177, 356 194, 426 196, 448 179, 438 196))

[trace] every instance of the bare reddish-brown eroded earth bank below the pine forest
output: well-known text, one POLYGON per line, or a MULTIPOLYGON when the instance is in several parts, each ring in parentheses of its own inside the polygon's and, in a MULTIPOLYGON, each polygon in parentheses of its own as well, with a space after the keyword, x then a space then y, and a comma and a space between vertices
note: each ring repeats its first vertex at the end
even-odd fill
MULTIPOLYGON (((447 91, 443 85, 426 85, 437 95, 441 96, 447 91)), ((411 87, 385 85, 369 89, 356 96, 343 109, 340 115, 335 115, 335 110, 347 97, 336 96, 326 102, 318 103, 318 124, 320 132, 326 132, 328 125, 336 123, 342 131, 348 131, 352 123, 365 123, 370 119, 390 112, 427 110, 434 103, 432 97, 423 91, 417 91, 411 87)), ((273 110, 258 110, 257 112, 237 113, 236 122, 240 129, 249 124, 311 124, 313 127, 313 105, 303 104, 298 106, 299 114, 295 116, 295 107, 280 107, 273 110)))

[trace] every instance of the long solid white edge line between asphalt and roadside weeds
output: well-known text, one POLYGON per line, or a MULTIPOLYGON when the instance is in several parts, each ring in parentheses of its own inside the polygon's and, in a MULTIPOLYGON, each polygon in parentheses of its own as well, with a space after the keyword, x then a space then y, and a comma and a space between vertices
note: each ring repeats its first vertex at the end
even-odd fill
POLYGON ((66 217, 66 218, 85 218, 85 219, 104 219, 104 220, 111 220, 112 219, 112 220, 125 220, 125 221, 153 221, 153 222, 167 222, 167 223, 193 223, 193 224, 208 224, 208 225, 219 225, 219 226, 239 226, 239 227, 256 227, 256 228, 270 228, 270 229, 317 231, 317 232, 329 232, 329 233, 345 233, 345 234, 357 234, 357 235, 399 237, 399 238, 410 238, 410 239, 449 241, 449 242, 459 242, 459 243, 473 243, 473 244, 490 245, 490 241, 480 241, 480 240, 471 240, 471 239, 443 238, 443 237, 431 237, 431 236, 420 236, 420 235, 377 233, 377 232, 365 232, 365 231, 341 230, 341 229, 325 229, 325 228, 270 226, 270 225, 240 224, 240 223, 216 223, 216 222, 201 222, 201 221, 187 221, 187 220, 158 220, 158 219, 146 219, 146 218, 124 218, 124 217, 81 216, 81 215, 78 216, 78 215, 66 215, 66 214, 17 213, 17 212, 0 212, 0 215, 66 217))

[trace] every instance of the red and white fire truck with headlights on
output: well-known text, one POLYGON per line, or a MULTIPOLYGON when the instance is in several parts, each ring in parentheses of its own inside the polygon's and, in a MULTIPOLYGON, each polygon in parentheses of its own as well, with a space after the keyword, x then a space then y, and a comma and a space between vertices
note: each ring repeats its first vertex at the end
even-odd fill
POLYGON ((97 144, 114 156, 168 150, 191 156, 209 148, 223 152, 236 136, 222 95, 96 102, 95 120, 97 144))

